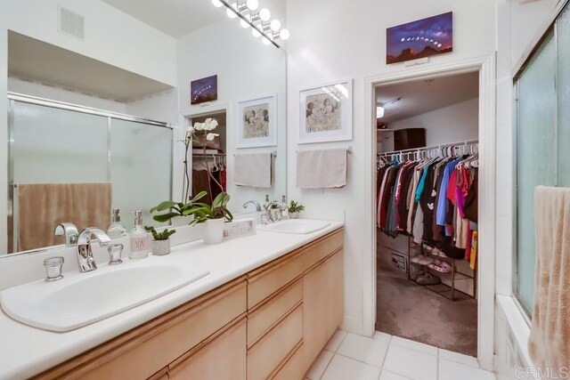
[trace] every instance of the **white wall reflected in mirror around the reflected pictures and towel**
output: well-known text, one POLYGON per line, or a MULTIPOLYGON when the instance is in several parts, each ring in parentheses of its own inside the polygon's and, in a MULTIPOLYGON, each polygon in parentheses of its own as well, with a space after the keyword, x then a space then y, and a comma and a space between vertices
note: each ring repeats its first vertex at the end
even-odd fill
MULTIPOLYGON (((178 39, 178 87, 180 109, 185 117, 228 107, 226 162, 227 190, 232 196, 232 211, 242 212, 241 205, 251 199, 263 203, 265 194, 281 201, 286 191, 286 58, 282 50, 265 46, 260 39, 243 29, 236 20, 222 20, 178 39), (209 106, 190 105, 190 83, 201 77, 217 75, 218 100, 209 106), (235 111, 238 101, 248 101, 276 94, 278 112, 278 147, 236 149, 235 111), (233 184, 233 155, 237 153, 277 150, 275 182, 271 189, 237 187, 233 184)), ((188 125, 183 121, 183 127, 188 125)), ((182 160, 182 155, 178 156, 182 160)))

